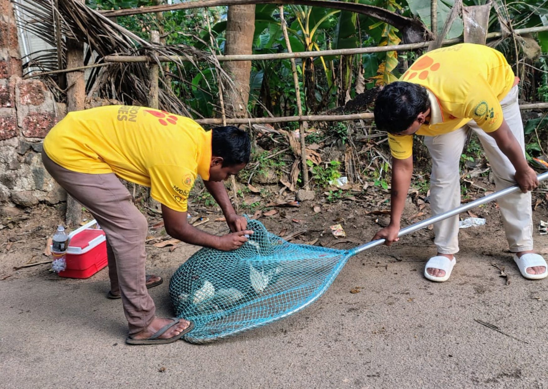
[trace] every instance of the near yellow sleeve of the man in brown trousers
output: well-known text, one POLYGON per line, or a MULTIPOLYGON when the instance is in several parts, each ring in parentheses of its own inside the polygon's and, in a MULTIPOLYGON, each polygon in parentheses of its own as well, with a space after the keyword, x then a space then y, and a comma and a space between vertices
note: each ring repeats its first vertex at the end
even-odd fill
POLYGON ((149 174, 151 198, 174 211, 186 212, 196 173, 182 166, 154 165, 149 174))

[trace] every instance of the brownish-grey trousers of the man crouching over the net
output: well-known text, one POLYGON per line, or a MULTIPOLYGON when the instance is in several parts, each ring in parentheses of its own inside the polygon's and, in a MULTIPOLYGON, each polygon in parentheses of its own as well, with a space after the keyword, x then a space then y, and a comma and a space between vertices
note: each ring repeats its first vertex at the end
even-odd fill
POLYGON ((114 173, 87 174, 67 170, 42 151, 44 167, 76 201, 92 213, 105 231, 110 288, 122 296, 129 335, 145 329, 156 315, 146 289, 145 239, 148 223, 114 173))

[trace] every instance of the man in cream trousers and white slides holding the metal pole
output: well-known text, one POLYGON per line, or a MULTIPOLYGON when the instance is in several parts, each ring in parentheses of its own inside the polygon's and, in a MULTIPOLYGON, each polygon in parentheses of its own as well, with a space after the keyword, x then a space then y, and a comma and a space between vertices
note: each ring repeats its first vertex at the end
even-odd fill
MULTIPOLYGON (((391 218, 373 239, 397 241, 413 173, 413 134, 424 135, 432 157, 430 204, 433 215, 460 205, 459 161, 467 134, 474 131, 489 160, 496 189, 517 182, 521 192, 500 198, 506 238, 525 278, 548 275, 546 261, 533 252, 530 190, 538 179, 524 156, 517 77, 504 55, 487 46, 461 43, 432 50, 379 92, 375 123, 389 132, 392 153, 391 218)), ((458 216, 434 224, 437 255, 424 275, 446 281, 459 251, 458 216)))

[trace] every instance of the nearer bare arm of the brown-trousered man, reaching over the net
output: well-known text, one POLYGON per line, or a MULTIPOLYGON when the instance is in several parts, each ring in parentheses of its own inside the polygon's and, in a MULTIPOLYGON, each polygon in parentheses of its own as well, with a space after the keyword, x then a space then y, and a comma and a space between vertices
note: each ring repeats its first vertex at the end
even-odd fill
POLYGON ((213 249, 230 251, 246 243, 246 234, 253 231, 242 230, 223 236, 216 236, 203 232, 186 221, 186 212, 174 211, 162 204, 165 232, 175 239, 192 245, 212 247, 213 249))

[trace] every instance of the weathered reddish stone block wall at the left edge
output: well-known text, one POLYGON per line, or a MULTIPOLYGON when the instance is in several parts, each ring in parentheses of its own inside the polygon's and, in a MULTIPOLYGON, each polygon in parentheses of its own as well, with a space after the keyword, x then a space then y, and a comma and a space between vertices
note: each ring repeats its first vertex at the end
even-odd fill
POLYGON ((65 113, 43 82, 22 78, 12 4, 0 0, 0 213, 66 199, 40 155, 43 138, 65 113))

